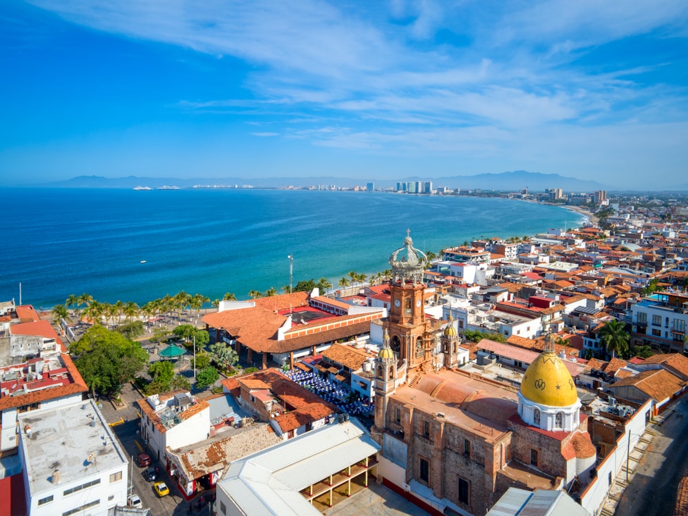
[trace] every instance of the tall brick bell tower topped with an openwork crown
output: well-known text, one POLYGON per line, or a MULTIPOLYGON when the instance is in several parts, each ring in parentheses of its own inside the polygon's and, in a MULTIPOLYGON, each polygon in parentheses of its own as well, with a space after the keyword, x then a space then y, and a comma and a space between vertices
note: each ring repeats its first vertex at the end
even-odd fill
POLYGON ((428 263, 424 252, 413 247, 407 230, 404 246, 389 257, 391 308, 387 321, 391 350, 407 361, 409 370, 431 361, 433 338, 425 321, 423 272, 428 263))

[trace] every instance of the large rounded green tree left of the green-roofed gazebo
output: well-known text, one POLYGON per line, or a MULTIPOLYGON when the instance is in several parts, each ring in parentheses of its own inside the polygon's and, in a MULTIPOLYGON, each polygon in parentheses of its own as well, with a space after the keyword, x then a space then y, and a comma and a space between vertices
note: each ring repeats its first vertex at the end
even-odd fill
POLYGON ((69 352, 92 394, 117 394, 148 363, 139 343, 100 325, 86 330, 69 352))

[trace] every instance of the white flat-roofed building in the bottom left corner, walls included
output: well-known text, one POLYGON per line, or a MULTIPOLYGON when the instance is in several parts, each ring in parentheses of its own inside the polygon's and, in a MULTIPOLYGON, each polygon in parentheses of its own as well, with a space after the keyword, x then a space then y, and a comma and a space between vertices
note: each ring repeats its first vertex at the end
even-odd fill
POLYGON ((129 457, 93 400, 19 416, 31 516, 107 515, 127 503, 129 457))

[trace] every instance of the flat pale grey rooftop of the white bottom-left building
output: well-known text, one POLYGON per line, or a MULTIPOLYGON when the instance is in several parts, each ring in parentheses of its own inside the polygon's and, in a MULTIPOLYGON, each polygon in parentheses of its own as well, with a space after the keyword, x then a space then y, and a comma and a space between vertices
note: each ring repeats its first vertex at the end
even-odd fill
POLYGON ((54 488, 51 480, 56 470, 60 485, 66 486, 129 462, 93 400, 25 413, 19 416, 19 425, 32 495, 54 488))

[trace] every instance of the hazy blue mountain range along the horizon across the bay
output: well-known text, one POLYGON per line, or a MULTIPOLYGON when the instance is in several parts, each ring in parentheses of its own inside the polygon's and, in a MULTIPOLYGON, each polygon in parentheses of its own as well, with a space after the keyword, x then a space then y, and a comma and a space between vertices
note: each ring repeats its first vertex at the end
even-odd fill
MULTIPOLYGON (((317 185, 335 185, 343 188, 350 188, 356 185, 363 185, 367 182, 374 182, 376 188, 389 188, 396 186, 397 182, 411 181, 432 181, 433 187, 447 186, 450 189, 460 188, 462 190, 495 190, 495 191, 518 191, 527 188, 530 192, 541 192, 549 188, 560 188, 566 193, 571 192, 592 192, 596 190, 612 190, 612 187, 603 185, 596 181, 583 181, 575 178, 567 178, 559 174, 542 174, 528 171, 512 171, 502 173, 484 173, 477 175, 453 175, 442 178, 420 178, 407 177, 396 180, 370 180, 352 178, 333 178, 330 176, 310 177, 310 178, 139 178, 130 175, 126 178, 103 178, 98 175, 80 175, 67 181, 54 182, 44 186, 61 188, 125 188, 133 189, 136 186, 149 186, 150 188, 160 188, 160 186, 179 186, 180 188, 195 185, 202 186, 245 186, 251 185, 255 188, 284 188, 287 186, 307 187, 317 185)), ((616 189, 618 190, 618 189, 616 189)))

